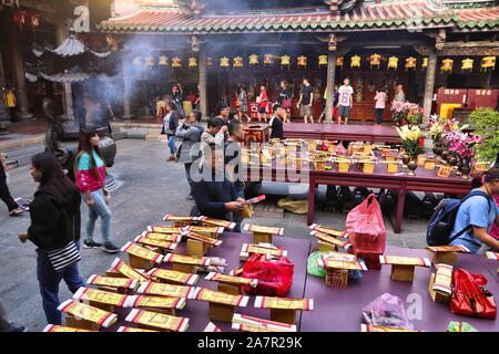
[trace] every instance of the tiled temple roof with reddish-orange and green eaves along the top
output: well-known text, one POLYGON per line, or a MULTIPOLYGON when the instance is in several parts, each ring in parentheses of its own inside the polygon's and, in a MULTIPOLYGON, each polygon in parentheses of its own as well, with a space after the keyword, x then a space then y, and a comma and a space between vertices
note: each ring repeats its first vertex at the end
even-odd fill
POLYGON ((363 3, 350 12, 333 14, 327 8, 262 10, 236 13, 201 14, 180 10, 143 8, 101 22, 103 32, 165 33, 254 33, 320 32, 373 29, 458 30, 499 29, 499 7, 436 8, 425 0, 363 3))

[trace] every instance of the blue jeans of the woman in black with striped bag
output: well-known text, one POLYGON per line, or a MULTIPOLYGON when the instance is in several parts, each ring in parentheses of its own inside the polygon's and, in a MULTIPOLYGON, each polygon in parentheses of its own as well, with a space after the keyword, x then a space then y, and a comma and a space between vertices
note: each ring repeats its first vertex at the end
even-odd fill
MULTIPOLYGON (((78 244, 78 242, 77 242, 78 244)), ((62 315, 58 310, 59 301, 59 283, 64 280, 68 289, 75 293, 78 289, 84 287, 85 283, 78 271, 78 263, 68 267, 61 272, 55 272, 50 263, 47 251, 37 250, 37 275, 40 284, 40 294, 42 296, 43 311, 45 312, 47 322, 49 324, 62 324, 62 315)))

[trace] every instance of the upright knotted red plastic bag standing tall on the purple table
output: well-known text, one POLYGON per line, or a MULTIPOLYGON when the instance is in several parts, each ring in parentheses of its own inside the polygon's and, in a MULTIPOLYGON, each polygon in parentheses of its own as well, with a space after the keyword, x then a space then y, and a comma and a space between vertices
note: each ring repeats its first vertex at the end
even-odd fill
POLYGON ((356 254, 383 254, 385 252, 385 222, 383 221, 381 207, 375 195, 370 195, 348 212, 345 229, 349 235, 356 254))

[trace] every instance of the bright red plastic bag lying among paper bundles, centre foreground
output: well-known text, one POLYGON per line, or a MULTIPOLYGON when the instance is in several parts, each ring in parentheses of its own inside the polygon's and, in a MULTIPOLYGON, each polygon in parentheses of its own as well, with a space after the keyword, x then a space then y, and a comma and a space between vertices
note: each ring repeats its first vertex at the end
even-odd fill
POLYGON ((245 293, 263 296, 286 296, 293 285, 294 266, 286 257, 266 259, 265 254, 252 254, 243 267, 241 277, 257 279, 256 288, 244 285, 245 293))

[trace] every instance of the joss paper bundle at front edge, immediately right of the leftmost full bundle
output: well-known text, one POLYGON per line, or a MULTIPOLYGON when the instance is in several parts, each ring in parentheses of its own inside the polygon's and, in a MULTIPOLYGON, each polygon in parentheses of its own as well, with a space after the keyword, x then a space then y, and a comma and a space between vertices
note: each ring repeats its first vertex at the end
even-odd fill
POLYGON ((189 327, 189 319, 186 317, 136 309, 130 312, 125 321, 173 332, 185 332, 189 327))

